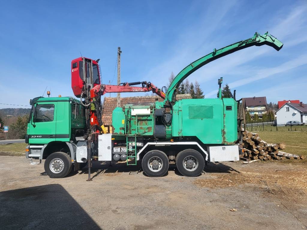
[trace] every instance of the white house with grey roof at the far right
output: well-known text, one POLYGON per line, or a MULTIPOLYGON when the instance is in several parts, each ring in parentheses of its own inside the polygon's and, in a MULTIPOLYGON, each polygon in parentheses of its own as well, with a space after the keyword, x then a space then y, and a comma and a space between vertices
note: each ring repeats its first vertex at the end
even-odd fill
POLYGON ((307 105, 300 102, 282 105, 276 111, 277 125, 286 125, 288 121, 300 121, 307 124, 307 105))

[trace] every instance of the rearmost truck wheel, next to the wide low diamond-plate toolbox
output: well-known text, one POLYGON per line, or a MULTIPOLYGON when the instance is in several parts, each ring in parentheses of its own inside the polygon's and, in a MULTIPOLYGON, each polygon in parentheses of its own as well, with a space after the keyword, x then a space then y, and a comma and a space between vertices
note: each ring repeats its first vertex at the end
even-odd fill
POLYGON ((199 151, 185 149, 177 154, 176 166, 182 175, 196 177, 204 170, 205 160, 199 151))

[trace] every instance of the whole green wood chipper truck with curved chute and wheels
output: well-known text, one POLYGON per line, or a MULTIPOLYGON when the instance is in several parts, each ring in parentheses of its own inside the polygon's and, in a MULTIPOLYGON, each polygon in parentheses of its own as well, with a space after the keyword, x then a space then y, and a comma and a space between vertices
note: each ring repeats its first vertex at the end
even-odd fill
POLYGON ((45 171, 51 178, 64 177, 72 169, 85 165, 90 175, 93 158, 126 161, 127 165, 140 162, 143 171, 152 177, 163 176, 169 164, 176 165, 184 176, 197 176, 210 161, 237 161, 242 135, 240 100, 235 95, 221 97, 223 79, 218 81, 218 98, 177 100, 177 89, 188 75, 205 64, 243 48, 264 44, 276 50, 283 46, 269 33, 255 33, 249 39, 214 49, 190 63, 161 93, 163 102, 115 108, 112 133, 103 132, 101 120, 103 108, 99 102, 105 86, 87 82, 92 78, 94 62, 83 58, 73 61, 72 71, 81 79, 78 80, 80 100, 72 97, 31 100, 26 158, 45 159, 45 171))

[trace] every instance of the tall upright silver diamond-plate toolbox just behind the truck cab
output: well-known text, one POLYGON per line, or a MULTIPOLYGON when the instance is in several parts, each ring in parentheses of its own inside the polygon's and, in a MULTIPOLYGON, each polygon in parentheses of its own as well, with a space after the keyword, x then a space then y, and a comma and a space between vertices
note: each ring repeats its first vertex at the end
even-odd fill
POLYGON ((101 134, 98 136, 98 160, 111 161, 112 160, 112 134, 101 134))

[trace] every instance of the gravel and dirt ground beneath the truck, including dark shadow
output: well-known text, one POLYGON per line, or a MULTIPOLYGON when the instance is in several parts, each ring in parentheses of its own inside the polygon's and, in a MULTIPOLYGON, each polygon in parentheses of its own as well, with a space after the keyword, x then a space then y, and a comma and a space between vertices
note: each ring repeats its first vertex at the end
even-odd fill
POLYGON ((209 164, 197 178, 183 177, 170 167, 164 177, 150 178, 139 166, 94 162, 93 181, 87 182, 87 169, 51 179, 44 161, 30 165, 21 156, 0 159, 3 229, 307 228, 305 194, 265 179, 276 170, 306 172, 305 164, 209 164), (244 182, 241 176, 233 183, 233 174, 241 172, 262 173, 262 180, 244 182), (214 179, 217 186, 206 186, 214 179))

